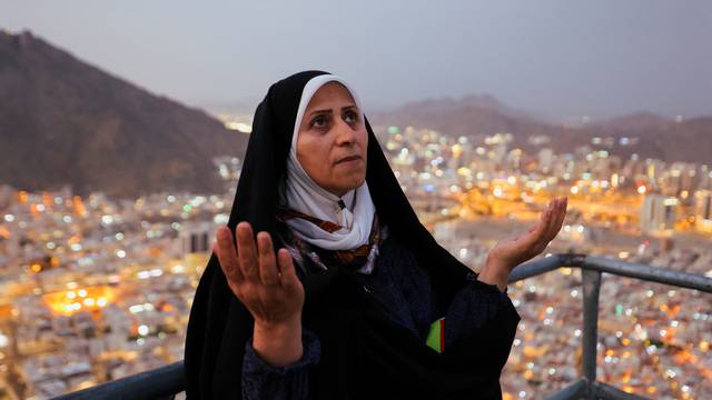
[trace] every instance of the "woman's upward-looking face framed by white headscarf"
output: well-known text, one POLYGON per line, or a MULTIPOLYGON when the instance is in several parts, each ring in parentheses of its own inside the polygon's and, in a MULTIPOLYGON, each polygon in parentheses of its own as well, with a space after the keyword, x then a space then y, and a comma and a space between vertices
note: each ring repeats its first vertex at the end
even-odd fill
POLYGON ((366 179, 368 133, 350 92, 338 82, 322 86, 299 126, 297 159, 322 188, 344 196, 366 179))

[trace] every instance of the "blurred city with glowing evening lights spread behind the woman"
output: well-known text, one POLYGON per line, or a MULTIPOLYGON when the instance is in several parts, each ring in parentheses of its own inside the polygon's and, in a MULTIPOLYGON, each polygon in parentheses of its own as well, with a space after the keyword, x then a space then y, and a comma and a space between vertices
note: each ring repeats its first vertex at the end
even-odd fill
MULTIPOLYGON (((250 129, 244 116, 221 120, 250 129)), ((554 138, 537 134, 538 151, 526 153, 506 132, 475 141, 374 130, 423 223, 475 271, 498 240, 566 196, 564 226, 541 257, 596 254, 712 277, 712 164, 613 152, 636 137, 557 153, 554 138)), ((0 187, 0 399, 47 399, 181 360, 240 163, 214 160, 225 190, 211 194, 127 200, 0 187)), ((581 281, 578 269, 560 268, 510 284, 522 320, 504 399, 541 399, 581 374, 581 281)), ((712 398, 709 293, 604 273, 600 299, 600 380, 647 398, 712 398)))

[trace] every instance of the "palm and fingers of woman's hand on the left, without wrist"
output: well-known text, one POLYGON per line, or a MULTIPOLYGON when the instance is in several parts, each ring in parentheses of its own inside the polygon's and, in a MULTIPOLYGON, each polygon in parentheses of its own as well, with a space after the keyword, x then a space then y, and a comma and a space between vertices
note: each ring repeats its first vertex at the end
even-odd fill
POLYGON ((268 232, 259 232, 255 243, 249 222, 238 223, 236 231, 237 251, 228 227, 218 229, 214 247, 233 293, 253 314, 256 328, 300 327, 304 287, 287 249, 279 249, 276 262, 268 232))

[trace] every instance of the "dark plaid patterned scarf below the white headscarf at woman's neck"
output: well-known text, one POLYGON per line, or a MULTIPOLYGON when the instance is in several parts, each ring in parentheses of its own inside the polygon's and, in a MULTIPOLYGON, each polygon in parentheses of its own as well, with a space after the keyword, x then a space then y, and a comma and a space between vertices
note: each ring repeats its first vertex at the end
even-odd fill
MULTIPOLYGON (((308 257, 320 269, 328 269, 329 264, 339 264, 350 270, 355 270, 360 273, 370 273, 374 267, 374 260, 378 254, 378 246, 385 239, 384 236, 386 227, 380 227, 378 223, 378 214, 374 212, 374 220, 370 227, 370 233, 368 236, 368 243, 362 244, 353 250, 328 250, 313 246, 297 234, 287 226, 287 220, 293 218, 301 218, 306 221, 314 223, 319 229, 327 232, 334 232, 342 227, 338 224, 318 219, 314 216, 306 214, 304 212, 286 209, 283 207, 277 208, 277 220, 281 223, 277 223, 279 234, 289 250, 291 257, 297 260, 301 269, 305 270, 304 256, 308 257)), ((305 270, 306 272, 306 270, 305 270)))

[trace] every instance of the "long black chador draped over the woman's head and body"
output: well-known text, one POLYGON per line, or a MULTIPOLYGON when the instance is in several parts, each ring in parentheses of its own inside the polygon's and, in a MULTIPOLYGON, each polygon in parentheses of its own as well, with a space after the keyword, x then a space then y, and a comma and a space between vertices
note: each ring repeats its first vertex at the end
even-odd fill
MULTIPOLYGON (((274 83, 257 107, 228 222, 248 221, 268 231, 275 249, 277 186, 286 162, 305 84, 328 73, 304 71, 274 83)), ((449 304, 476 274, 442 248, 418 221, 373 129, 368 131, 366 180, 379 220, 411 250, 431 278, 436 304, 449 304)), ((303 324, 317 333, 322 358, 313 371, 315 399, 501 398, 500 373, 520 316, 510 304, 482 329, 443 353, 389 321, 365 293, 356 273, 329 268, 303 279, 303 324)), ((189 399, 241 399, 245 343, 254 320, 227 286, 211 254, 198 284, 188 323, 185 366, 189 399)))

